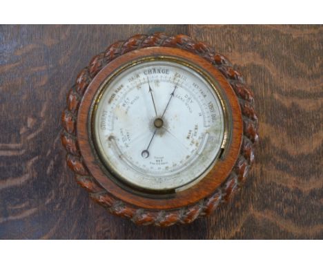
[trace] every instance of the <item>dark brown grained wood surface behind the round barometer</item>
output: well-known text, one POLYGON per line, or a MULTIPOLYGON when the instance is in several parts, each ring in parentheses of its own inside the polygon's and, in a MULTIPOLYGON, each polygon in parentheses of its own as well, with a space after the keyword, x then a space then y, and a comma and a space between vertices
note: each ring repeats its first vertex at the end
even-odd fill
POLYGON ((323 238, 322 26, 0 26, 0 238, 323 238), (184 33, 242 71, 260 119, 239 191, 192 225, 110 216, 66 167, 68 89, 93 55, 137 33, 184 33))

